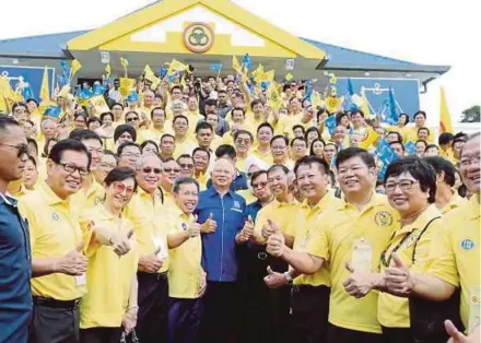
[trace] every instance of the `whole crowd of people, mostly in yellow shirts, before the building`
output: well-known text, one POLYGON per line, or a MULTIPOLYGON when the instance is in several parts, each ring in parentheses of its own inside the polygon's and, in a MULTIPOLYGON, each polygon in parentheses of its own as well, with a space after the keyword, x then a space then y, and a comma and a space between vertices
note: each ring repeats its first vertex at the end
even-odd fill
POLYGON ((249 82, 0 116, 0 342, 479 340, 480 133, 249 82))

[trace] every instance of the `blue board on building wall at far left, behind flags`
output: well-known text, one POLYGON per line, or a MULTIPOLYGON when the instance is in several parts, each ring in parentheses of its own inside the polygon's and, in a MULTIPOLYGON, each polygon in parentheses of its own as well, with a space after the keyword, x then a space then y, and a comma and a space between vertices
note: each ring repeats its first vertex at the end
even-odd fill
MULTIPOLYGON (((15 90, 21 82, 28 83, 33 93, 32 96, 39 102, 44 69, 43 67, 0 66, 0 75, 9 79, 10 86, 13 90, 15 90)), ((51 96, 55 84, 55 69, 47 68, 47 70, 51 96)))

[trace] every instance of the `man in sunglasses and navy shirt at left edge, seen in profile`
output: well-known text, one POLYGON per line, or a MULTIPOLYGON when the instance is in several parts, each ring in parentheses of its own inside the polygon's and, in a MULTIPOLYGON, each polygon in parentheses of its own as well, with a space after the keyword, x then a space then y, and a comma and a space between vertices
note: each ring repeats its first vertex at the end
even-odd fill
POLYGON ((27 223, 9 182, 22 178, 28 145, 19 123, 0 116, 0 343, 25 343, 32 315, 32 258, 27 223))

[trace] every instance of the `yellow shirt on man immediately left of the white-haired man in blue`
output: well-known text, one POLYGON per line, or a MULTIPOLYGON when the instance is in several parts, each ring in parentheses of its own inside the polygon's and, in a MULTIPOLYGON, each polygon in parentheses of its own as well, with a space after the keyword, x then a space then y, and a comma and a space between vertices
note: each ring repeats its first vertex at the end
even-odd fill
MULTIPOLYGON (((177 206, 164 217, 163 226, 168 234, 187 230, 193 215, 183 213, 177 206)), ((168 296, 181 299, 198 298, 202 267, 202 240, 200 236, 191 237, 177 248, 171 249, 171 268, 168 270, 168 296)))

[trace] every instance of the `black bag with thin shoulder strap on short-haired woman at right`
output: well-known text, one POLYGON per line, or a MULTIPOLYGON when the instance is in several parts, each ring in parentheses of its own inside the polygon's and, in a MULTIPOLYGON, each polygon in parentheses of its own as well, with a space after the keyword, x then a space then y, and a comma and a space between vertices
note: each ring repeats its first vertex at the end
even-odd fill
MULTIPOLYGON (((426 224, 412 250, 412 263, 415 261, 415 247, 419 239, 427 229, 431 223, 439 217, 433 218, 426 224)), ((444 328, 444 321, 449 319, 458 328, 464 331, 461 316, 459 312, 461 301, 460 288, 456 288, 451 297, 445 301, 432 301, 420 297, 409 298, 409 316, 411 321, 411 333, 415 342, 447 342, 449 339, 444 328)))

